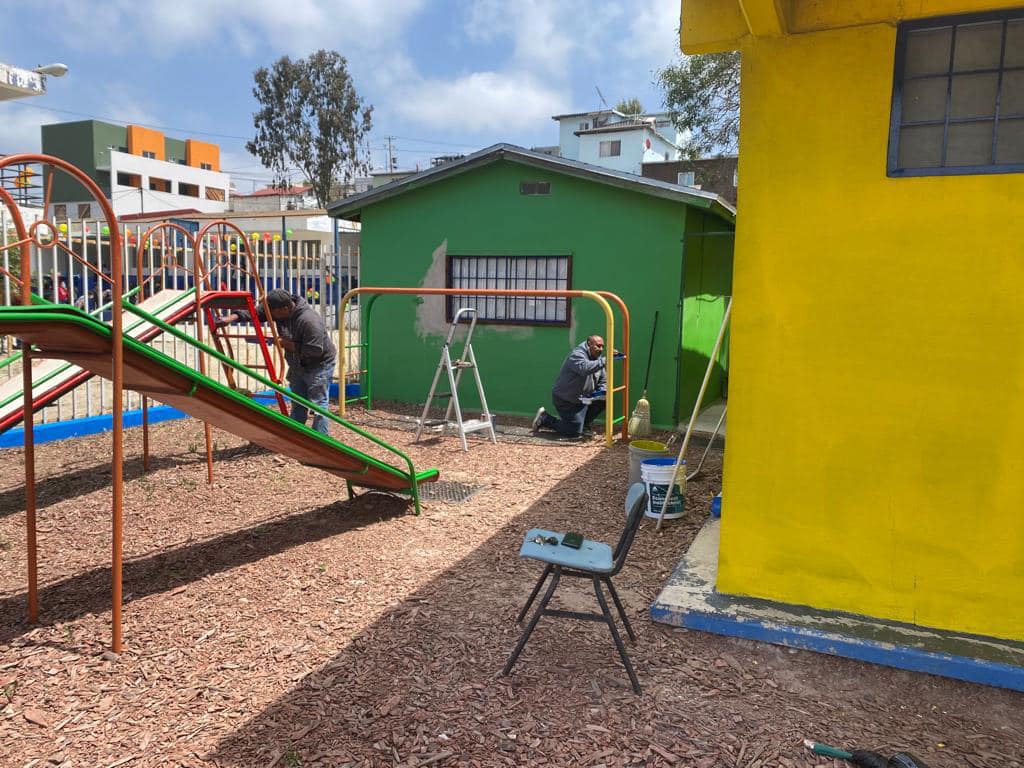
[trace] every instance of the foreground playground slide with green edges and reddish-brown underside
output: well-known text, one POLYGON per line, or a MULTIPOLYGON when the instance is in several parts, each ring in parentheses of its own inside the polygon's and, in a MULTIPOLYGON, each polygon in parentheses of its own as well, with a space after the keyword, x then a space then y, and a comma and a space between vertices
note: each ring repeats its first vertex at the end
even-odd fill
MULTIPOLYGON (((0 333, 39 348, 40 357, 67 360, 90 375, 112 378, 110 327, 63 304, 0 307, 0 333)), ((251 442, 343 477, 353 485, 417 493, 437 470, 399 469, 292 421, 125 335, 124 386, 251 442)))

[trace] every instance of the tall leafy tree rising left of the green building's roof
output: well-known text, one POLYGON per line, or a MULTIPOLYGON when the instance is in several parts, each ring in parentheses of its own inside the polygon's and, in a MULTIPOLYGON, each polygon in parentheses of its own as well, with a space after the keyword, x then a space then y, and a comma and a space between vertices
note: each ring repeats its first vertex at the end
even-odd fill
POLYGON ((374 108, 355 92, 344 56, 328 50, 295 60, 282 56, 253 79, 261 109, 253 114, 256 137, 246 148, 273 171, 275 186, 287 187, 290 168, 298 166, 324 207, 337 179, 347 182, 369 170, 359 147, 374 108))

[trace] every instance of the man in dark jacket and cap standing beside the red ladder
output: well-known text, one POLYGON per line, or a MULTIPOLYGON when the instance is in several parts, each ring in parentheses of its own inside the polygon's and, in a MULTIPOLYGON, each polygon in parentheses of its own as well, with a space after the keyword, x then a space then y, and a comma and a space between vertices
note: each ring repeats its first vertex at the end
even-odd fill
MULTIPOLYGON (((304 299, 280 288, 267 292, 266 305, 278 326, 278 337, 285 350, 289 388, 314 406, 327 410, 331 376, 338 350, 324 325, 324 318, 304 299)), ((256 313, 260 319, 265 319, 262 305, 257 307, 256 313)), ((249 312, 239 310, 217 318, 217 325, 250 319, 249 312)), ((295 421, 305 424, 309 418, 309 409, 293 401, 291 416, 295 421)), ((328 434, 327 417, 315 414, 312 427, 317 432, 328 434)))

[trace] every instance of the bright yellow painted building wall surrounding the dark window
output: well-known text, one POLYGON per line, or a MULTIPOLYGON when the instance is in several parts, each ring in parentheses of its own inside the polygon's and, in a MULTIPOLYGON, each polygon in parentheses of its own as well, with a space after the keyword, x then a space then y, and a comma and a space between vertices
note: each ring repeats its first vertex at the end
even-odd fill
POLYGON ((1024 174, 886 176, 895 42, 744 41, 718 589, 1024 640, 1024 174))

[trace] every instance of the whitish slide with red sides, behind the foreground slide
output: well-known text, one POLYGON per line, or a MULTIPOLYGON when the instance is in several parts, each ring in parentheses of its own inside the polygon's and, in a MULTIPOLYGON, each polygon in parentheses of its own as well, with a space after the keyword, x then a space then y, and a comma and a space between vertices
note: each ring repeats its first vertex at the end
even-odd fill
MULTIPOLYGON (((141 309, 164 323, 175 324, 193 314, 195 289, 159 291, 139 304, 141 309)), ((44 304, 45 305, 45 304, 44 304)), ((152 323, 140 319, 127 310, 123 314, 126 336, 139 341, 151 341, 162 333, 152 323)), ((9 365, 22 356, 20 352, 4 360, 9 365)), ((75 387, 92 378, 92 372, 61 359, 34 360, 32 364, 33 412, 55 401, 75 387)), ((22 396, 22 377, 14 376, 0 384, 0 432, 20 423, 25 417, 25 398, 22 396)))

